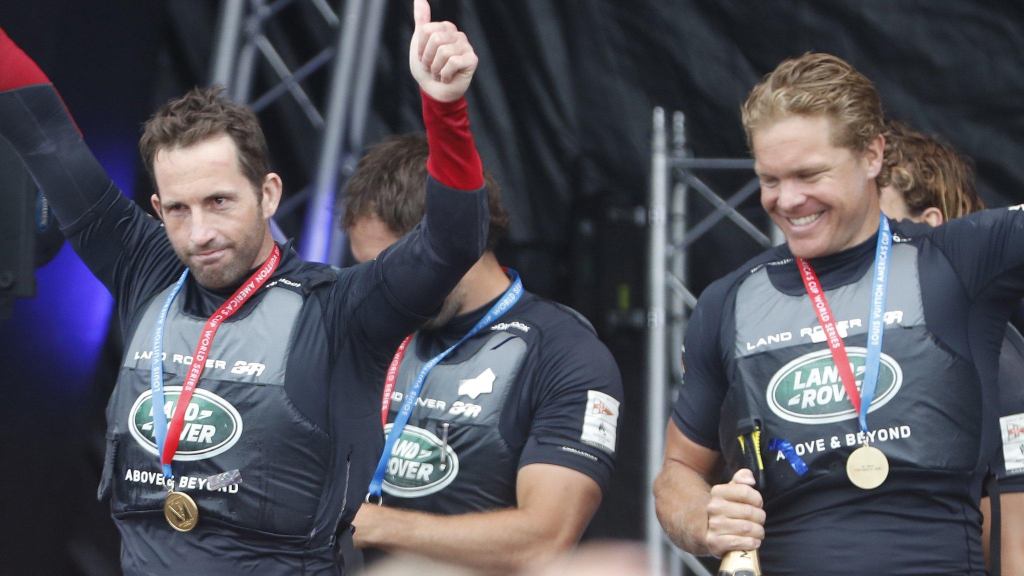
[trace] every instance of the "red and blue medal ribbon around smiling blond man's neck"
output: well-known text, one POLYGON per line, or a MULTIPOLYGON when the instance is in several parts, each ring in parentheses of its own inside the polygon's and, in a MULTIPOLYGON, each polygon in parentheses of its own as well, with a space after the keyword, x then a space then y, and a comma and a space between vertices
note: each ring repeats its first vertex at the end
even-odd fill
POLYGON ((811 298, 814 312, 818 316, 818 324, 825 332, 828 342, 828 351, 831 352, 833 362, 839 369, 840 378, 843 380, 843 388, 850 399, 850 404, 857 411, 860 422, 860 430, 867 433, 867 410, 874 400, 874 389, 879 383, 879 365, 882 362, 882 336, 885 333, 886 314, 886 286, 889 283, 889 253, 892 250, 892 232, 889 230, 889 220, 885 214, 881 216, 879 222, 879 240, 874 247, 874 274, 871 276, 871 299, 870 308, 867 312, 867 346, 864 355, 864 379, 861 389, 857 392, 857 382, 853 376, 853 369, 850 365, 850 358, 846 354, 846 344, 836 327, 836 317, 833 316, 831 308, 828 307, 828 300, 825 298, 824 288, 818 280, 811 262, 804 258, 797 258, 800 266, 800 276, 804 281, 804 288, 811 298))

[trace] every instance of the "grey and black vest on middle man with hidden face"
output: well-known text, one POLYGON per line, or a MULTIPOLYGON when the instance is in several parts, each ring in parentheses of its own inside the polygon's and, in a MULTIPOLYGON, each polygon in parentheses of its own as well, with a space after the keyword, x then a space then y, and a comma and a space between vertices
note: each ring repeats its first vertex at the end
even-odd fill
MULTIPOLYGON (((410 342, 391 398, 401 407, 429 360, 410 342)), ((509 446, 500 420, 526 359, 528 334, 483 330, 430 371, 384 479, 388 505, 460 513, 515 505, 521 446, 509 446)), ((385 428, 390 431, 391 424, 385 428)))

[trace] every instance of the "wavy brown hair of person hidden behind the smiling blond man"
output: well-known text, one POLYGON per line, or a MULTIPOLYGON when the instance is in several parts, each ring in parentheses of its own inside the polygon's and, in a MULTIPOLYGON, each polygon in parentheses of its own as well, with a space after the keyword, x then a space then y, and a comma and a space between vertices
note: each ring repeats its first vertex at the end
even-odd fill
POLYGON ((948 221, 985 209, 974 188, 974 170, 948 143, 896 121, 886 124, 885 136, 886 169, 879 188, 892 186, 903 195, 911 215, 935 207, 948 221))

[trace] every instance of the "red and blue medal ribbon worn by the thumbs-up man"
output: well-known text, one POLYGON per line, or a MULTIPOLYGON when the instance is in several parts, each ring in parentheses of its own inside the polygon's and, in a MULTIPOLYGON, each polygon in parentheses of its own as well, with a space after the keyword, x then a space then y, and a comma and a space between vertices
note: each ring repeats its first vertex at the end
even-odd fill
POLYGON ((206 368, 206 357, 210 354, 217 328, 233 316, 266 283, 280 262, 281 248, 274 245, 273 251, 270 252, 270 256, 263 262, 263 265, 249 277, 249 280, 243 282, 234 294, 227 298, 220 308, 206 321, 206 325, 200 333, 199 342, 196 344, 191 366, 189 366, 185 382, 181 386, 178 404, 174 409, 170 425, 168 425, 167 415, 164 413, 164 326, 167 324, 167 313, 171 308, 171 303, 185 283, 188 269, 181 273, 181 277, 178 278, 177 283, 167 295, 167 299, 164 300, 164 305, 160 308, 160 316, 157 317, 157 325, 153 330, 153 357, 150 361, 150 389, 153 390, 153 434, 157 441, 157 453, 160 455, 164 478, 169 479, 174 476, 171 471, 171 461, 174 459, 174 454, 178 451, 178 443, 181 441, 185 411, 188 409, 188 401, 191 400, 193 393, 196 392, 199 378, 206 368))

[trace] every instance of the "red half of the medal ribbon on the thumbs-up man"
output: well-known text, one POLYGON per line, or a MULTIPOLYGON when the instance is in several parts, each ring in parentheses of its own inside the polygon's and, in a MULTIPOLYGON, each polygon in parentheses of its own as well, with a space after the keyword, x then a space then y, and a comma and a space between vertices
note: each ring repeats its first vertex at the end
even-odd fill
POLYGON ((199 343, 196 344, 196 352, 193 354, 193 363, 188 367, 188 375, 185 376, 185 383, 181 386, 181 395, 178 397, 178 405, 174 408, 174 416, 167 426, 167 439, 164 441, 164 453, 160 458, 161 463, 170 465, 171 460, 174 459, 175 452, 178 451, 178 443, 181 440, 181 428, 184 425, 188 402, 191 400, 193 393, 196 392, 196 384, 199 383, 199 377, 203 375, 203 370, 206 368, 206 357, 210 354, 210 348, 213 345, 213 336, 217 333, 217 328, 220 327, 221 323, 233 316, 234 313, 239 312, 242 304, 246 303, 266 283, 280 262, 281 248, 274 245, 273 251, 270 252, 270 256, 263 262, 263 265, 249 277, 249 280, 245 281, 230 298, 227 298, 220 306, 220 310, 213 313, 213 316, 206 321, 206 326, 203 327, 203 331, 200 333, 199 343))

